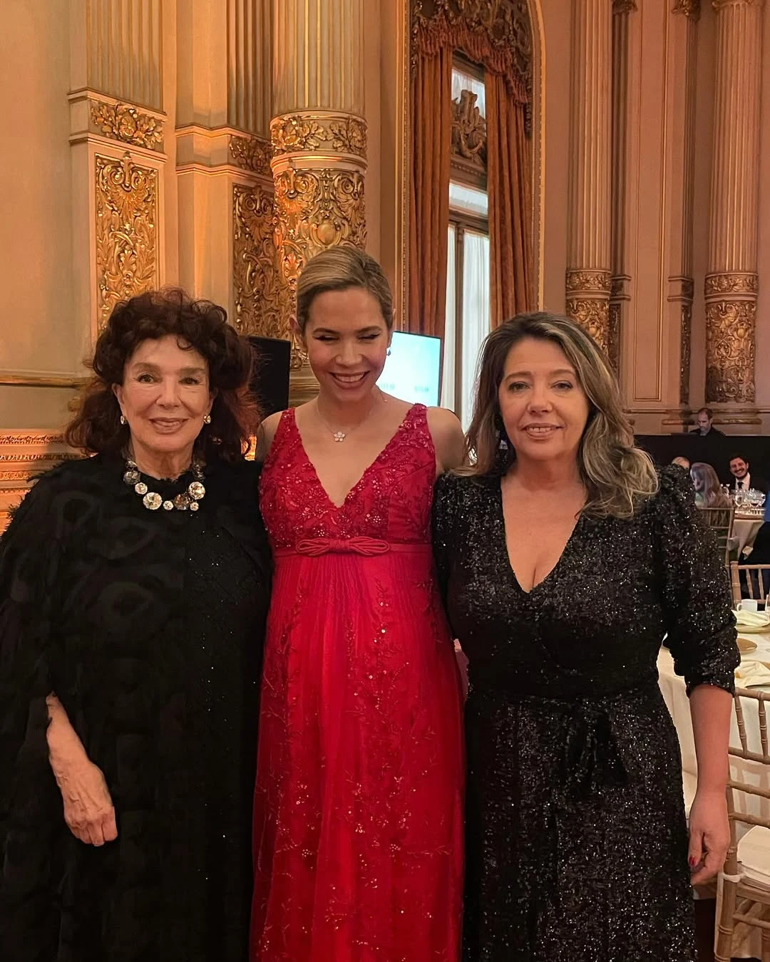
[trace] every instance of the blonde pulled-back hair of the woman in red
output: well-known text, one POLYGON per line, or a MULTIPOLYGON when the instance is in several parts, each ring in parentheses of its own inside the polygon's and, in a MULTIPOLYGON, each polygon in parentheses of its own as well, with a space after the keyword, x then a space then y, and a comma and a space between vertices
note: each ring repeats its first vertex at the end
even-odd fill
POLYGON ((363 288, 375 297, 388 330, 393 329, 393 293, 388 278, 373 257, 359 247, 328 247, 303 267, 296 284, 296 326, 305 336, 310 307, 325 291, 363 288))

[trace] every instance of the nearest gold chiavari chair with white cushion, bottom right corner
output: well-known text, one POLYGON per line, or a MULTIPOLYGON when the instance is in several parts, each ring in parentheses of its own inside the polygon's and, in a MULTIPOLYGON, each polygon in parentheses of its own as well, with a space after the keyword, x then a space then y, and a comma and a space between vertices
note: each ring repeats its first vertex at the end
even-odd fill
POLYGON ((762 962, 770 962, 770 751, 767 743, 767 701, 770 701, 770 692, 735 689, 733 706, 740 747, 733 745, 731 740, 731 777, 727 789, 730 848, 720 873, 722 900, 716 920, 715 962, 731 962, 732 937, 737 923, 761 930, 762 962), (758 745, 754 733, 751 738, 747 736, 746 719, 748 716, 753 723, 755 710, 758 745), (741 800, 745 803, 740 810, 736 808, 736 796, 739 794, 743 795, 741 800), (754 804, 751 804, 752 799, 755 800, 754 804), (740 838, 738 825, 750 826, 740 838))

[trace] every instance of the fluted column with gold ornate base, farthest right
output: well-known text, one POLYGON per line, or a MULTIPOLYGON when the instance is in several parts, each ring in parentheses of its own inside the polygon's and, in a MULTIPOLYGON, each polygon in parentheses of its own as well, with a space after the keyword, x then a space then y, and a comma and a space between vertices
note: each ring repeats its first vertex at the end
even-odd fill
POLYGON ((706 272, 706 402, 757 424, 757 212, 763 0, 713 0, 716 84, 706 272), (747 406, 748 405, 748 406, 747 406))

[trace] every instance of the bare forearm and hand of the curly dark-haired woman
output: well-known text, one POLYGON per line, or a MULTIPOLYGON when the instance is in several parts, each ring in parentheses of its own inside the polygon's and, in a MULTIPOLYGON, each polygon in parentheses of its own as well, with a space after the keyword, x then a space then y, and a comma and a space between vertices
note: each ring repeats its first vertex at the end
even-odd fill
POLYGON ((64 799, 64 821, 81 842, 95 846, 114 842, 115 807, 104 775, 90 761, 59 698, 51 694, 45 703, 50 719, 48 758, 64 799))

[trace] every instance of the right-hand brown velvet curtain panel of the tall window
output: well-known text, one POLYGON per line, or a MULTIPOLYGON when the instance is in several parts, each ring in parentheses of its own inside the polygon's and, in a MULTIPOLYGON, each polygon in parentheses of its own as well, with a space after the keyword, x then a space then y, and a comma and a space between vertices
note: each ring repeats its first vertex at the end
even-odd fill
POLYGON ((505 77, 487 72, 487 193, 489 195, 492 327, 531 310, 532 175, 525 105, 505 77))

